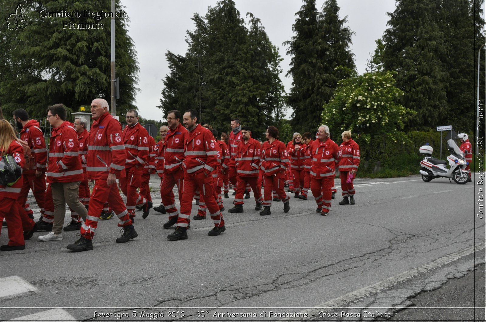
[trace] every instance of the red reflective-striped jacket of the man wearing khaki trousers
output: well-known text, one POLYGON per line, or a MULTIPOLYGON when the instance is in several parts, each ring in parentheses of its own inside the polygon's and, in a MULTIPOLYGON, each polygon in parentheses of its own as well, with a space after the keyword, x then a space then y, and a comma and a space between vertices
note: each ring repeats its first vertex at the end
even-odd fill
POLYGON ((83 166, 79 159, 78 132, 71 122, 64 121, 51 132, 47 182, 83 180, 83 166))

